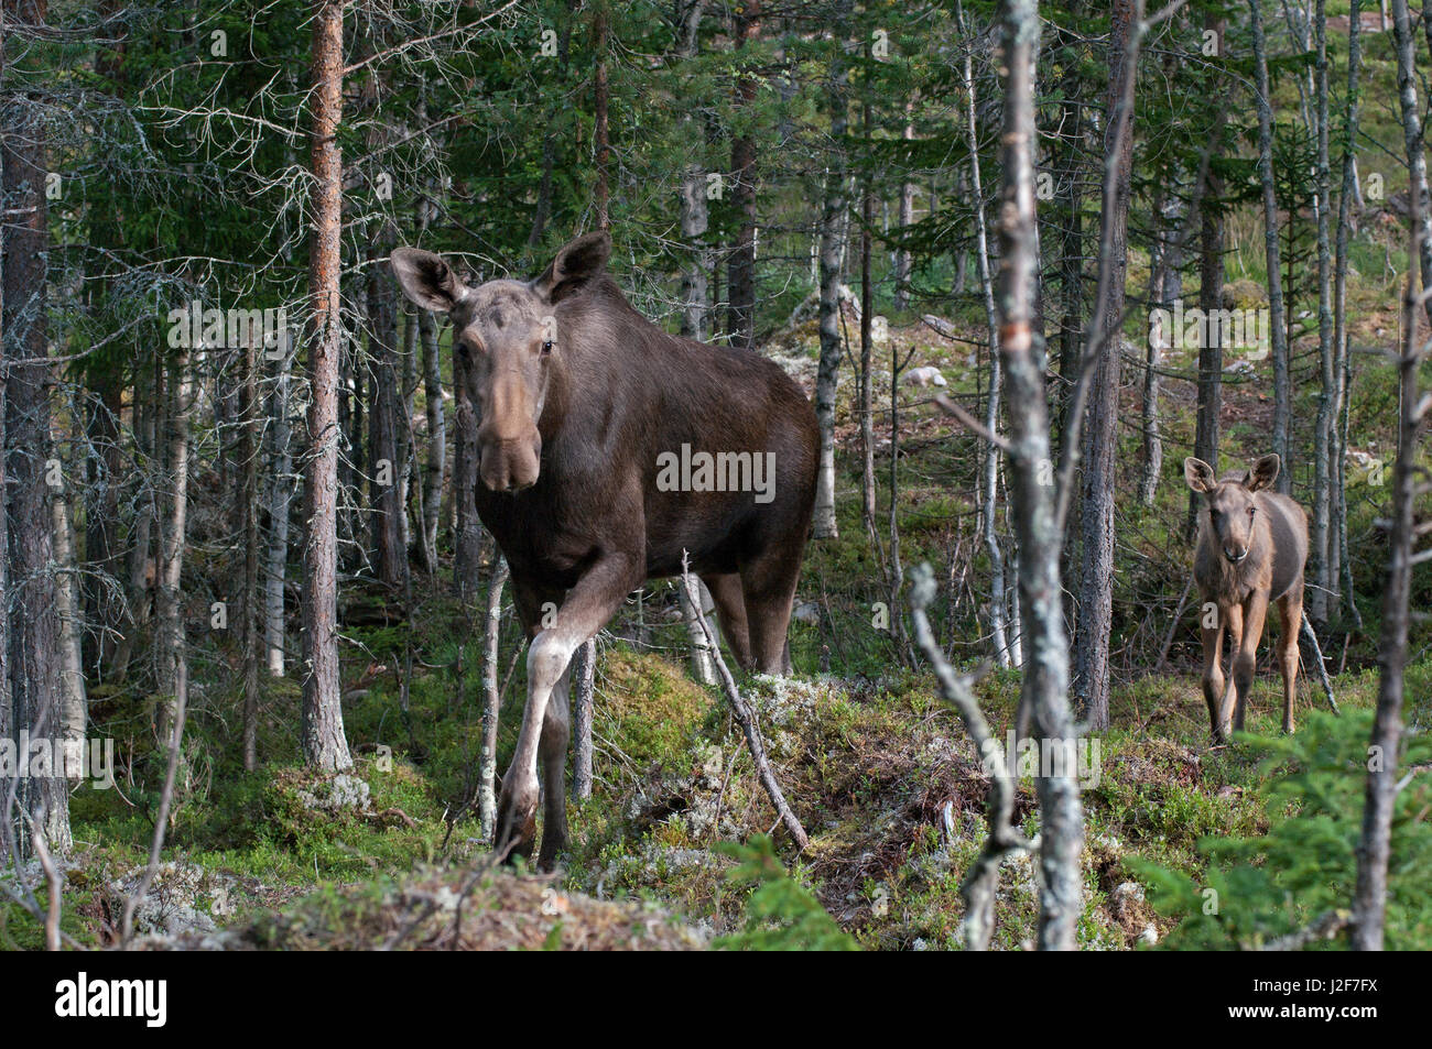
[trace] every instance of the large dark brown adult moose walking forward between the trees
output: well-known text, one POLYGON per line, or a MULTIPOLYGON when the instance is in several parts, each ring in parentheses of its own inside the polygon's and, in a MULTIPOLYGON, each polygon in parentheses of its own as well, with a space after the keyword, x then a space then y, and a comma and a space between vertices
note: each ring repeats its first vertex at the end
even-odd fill
POLYGON ((477 512, 507 557, 531 640, 495 847, 531 854, 540 757, 544 869, 567 840, 573 653, 647 578, 679 574, 689 551, 736 660, 789 670, 815 502, 819 432, 800 388, 756 353, 656 328, 607 276, 610 253, 606 232, 589 233, 536 280, 477 288, 431 252, 400 248, 391 260, 412 302, 450 316, 467 365, 477 512), (662 464, 676 457, 705 469, 673 484, 682 471, 662 464))

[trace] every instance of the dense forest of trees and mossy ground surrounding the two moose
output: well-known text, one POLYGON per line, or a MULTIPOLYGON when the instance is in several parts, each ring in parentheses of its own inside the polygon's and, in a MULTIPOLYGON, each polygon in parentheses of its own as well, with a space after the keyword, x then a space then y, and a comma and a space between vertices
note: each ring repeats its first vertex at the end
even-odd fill
POLYGON ((3 0, 0 49, 0 738, 116 779, 0 780, 7 946, 1306 946, 1373 897, 1428 946, 1432 6, 3 0), (816 406, 796 673, 742 681, 805 850, 654 582, 579 675, 561 873, 483 863, 524 637, 388 255, 531 278, 601 228, 643 315, 816 406), (1267 452, 1342 714, 1305 644, 1277 736, 1264 647, 1210 748, 1183 459, 1267 452), (922 630, 1002 747, 1034 560, 1034 731, 1098 774, 1004 796, 922 630))

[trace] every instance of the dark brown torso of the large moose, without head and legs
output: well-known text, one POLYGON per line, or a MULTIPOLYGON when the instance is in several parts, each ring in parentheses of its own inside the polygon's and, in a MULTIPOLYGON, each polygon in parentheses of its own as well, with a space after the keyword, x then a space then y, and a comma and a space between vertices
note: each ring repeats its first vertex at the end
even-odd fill
POLYGON ((819 429, 805 392, 776 364, 667 335, 609 278, 558 302, 554 316, 570 348, 567 389, 544 414, 538 481, 516 497, 477 491, 478 512, 510 558, 551 585, 573 585, 590 544, 613 524, 609 508, 633 487, 649 577, 680 572, 683 550, 695 571, 736 571, 746 551, 805 531, 819 429), (663 457, 700 452, 769 454, 770 501, 749 489, 692 491, 686 477, 674 491, 659 487, 663 457))

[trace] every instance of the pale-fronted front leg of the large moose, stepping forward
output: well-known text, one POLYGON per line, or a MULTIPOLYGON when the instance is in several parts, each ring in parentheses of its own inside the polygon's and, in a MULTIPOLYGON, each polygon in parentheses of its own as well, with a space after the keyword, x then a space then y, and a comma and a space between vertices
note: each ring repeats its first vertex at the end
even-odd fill
MULTIPOLYGON (((642 547, 637 547, 640 550, 642 547)), ((537 756, 547 723, 548 704, 573 653, 589 637, 606 625, 626 595, 642 585, 646 577, 646 562, 640 555, 607 552, 587 570, 577 585, 569 592, 557 610, 550 627, 537 633, 527 650, 527 706, 523 708, 523 727, 517 734, 517 751, 503 777, 503 797, 497 807, 497 833, 493 847, 504 857, 531 856, 533 840, 537 836, 537 756)), ((563 704, 564 706, 564 704, 563 704)), ((551 711, 557 714, 557 710, 551 711)), ((556 740, 554 740, 556 743, 556 740)), ((566 756, 566 741, 561 746, 566 756)), ((551 763, 548 763, 548 769, 551 763)), ((551 779, 548 776, 548 779, 551 779)), ((548 806, 566 801, 561 779, 548 783, 547 790, 557 799, 548 799, 548 806)), ((563 809, 561 823, 566 823, 563 809)), ((561 827, 554 827, 561 836, 561 827)), ((556 846, 557 839, 554 839, 556 846)), ((547 852, 546 849, 543 850, 547 852)))

